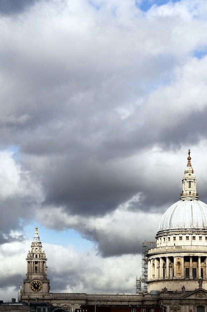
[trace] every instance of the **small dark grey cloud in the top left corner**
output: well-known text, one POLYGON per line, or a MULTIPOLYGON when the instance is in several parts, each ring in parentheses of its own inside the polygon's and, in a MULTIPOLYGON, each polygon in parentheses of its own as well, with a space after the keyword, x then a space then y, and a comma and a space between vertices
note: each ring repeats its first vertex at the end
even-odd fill
POLYGON ((0 14, 20 13, 39 0, 0 0, 0 14))

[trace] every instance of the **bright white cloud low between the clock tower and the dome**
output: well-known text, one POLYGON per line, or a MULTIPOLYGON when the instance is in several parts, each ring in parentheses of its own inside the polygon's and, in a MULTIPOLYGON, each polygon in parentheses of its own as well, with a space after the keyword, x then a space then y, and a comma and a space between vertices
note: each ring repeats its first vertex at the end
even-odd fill
POLYGON ((46 244, 46 248, 48 274, 51 274, 48 277, 52 278, 51 292, 60 291, 56 289, 55 282, 62 280, 66 285, 62 292, 135 293, 136 275, 140 275, 140 256, 103 259, 94 249, 78 254, 70 247, 46 244))

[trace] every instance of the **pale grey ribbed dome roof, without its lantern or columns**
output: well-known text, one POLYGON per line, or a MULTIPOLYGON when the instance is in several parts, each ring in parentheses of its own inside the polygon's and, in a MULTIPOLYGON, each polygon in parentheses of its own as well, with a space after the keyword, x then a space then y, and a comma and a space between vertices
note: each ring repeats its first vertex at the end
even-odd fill
POLYGON ((179 200, 164 213, 158 231, 207 229, 207 204, 201 200, 179 200))

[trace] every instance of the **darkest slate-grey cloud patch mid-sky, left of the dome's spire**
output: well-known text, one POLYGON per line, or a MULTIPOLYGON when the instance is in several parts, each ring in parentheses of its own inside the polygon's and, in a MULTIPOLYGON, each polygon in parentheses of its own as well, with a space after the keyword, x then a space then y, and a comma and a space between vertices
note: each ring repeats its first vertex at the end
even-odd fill
POLYGON ((84 157, 71 162, 63 160, 59 173, 56 170, 52 173, 48 168, 45 204, 67 206, 74 214, 103 215, 137 190, 133 180, 126 183, 125 172, 120 170, 117 176, 110 165, 84 157))

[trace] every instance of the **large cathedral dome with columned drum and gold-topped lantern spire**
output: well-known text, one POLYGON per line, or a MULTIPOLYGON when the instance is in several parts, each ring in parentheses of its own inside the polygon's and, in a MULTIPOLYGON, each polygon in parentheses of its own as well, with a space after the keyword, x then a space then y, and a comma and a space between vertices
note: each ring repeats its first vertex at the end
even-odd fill
POLYGON ((147 292, 182 298, 183 290, 207 289, 207 204, 199 200, 190 150, 187 159, 180 200, 165 211, 156 247, 147 251, 147 292))

